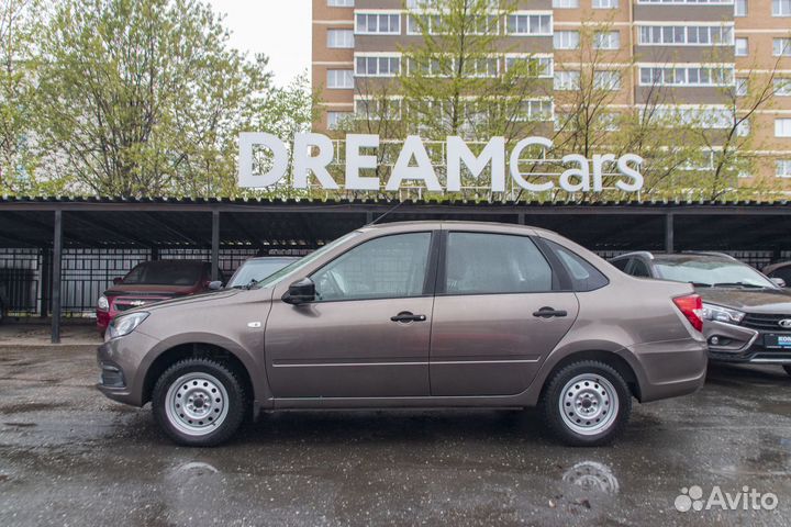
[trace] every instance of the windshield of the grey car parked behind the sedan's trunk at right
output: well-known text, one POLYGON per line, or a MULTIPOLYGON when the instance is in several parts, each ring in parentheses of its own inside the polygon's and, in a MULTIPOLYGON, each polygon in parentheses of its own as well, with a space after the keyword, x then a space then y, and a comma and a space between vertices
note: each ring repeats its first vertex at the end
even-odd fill
POLYGON ((655 260, 659 277, 700 287, 742 287, 777 289, 764 274, 751 267, 732 260, 679 258, 655 260))

